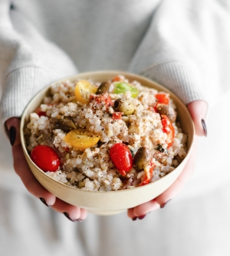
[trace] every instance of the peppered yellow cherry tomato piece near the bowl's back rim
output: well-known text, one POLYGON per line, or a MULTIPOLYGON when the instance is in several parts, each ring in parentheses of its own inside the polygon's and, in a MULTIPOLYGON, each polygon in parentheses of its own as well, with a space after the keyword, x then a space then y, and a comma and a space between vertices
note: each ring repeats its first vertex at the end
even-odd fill
POLYGON ((87 104, 90 99, 90 95, 96 93, 97 87, 92 85, 87 80, 81 80, 77 82, 75 87, 75 98, 82 104, 87 104))

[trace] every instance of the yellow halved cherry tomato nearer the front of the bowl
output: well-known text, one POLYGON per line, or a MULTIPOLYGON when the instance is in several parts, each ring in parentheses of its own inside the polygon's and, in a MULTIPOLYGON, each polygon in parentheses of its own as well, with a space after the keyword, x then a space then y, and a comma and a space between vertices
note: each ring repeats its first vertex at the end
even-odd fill
POLYGON ((64 137, 64 141, 76 149, 91 148, 97 144, 99 139, 100 136, 94 135, 84 129, 71 130, 64 137))

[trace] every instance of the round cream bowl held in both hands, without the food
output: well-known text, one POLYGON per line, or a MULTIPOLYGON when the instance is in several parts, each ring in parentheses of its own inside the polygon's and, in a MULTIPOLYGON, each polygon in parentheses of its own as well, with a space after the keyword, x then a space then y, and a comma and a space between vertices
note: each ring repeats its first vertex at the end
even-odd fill
MULTIPOLYGON (((61 83, 66 81, 76 81, 81 79, 91 79, 92 81, 107 81, 114 78, 117 75, 124 75, 130 81, 136 80, 140 81, 142 85, 145 85, 149 88, 156 88, 158 91, 165 91, 169 93, 170 98, 174 101, 174 104, 177 108, 177 115, 179 121, 182 125, 182 131, 188 136, 187 148, 188 153, 186 158, 168 175, 165 175, 163 178, 160 178, 157 181, 151 182, 148 185, 143 185, 137 188, 130 188, 120 191, 85 191, 78 188, 70 187, 64 185, 63 183, 54 180, 49 177, 38 168, 33 161, 31 161, 28 151, 26 150, 24 131, 25 125, 27 125, 29 120, 29 115, 31 112, 35 111, 38 108, 38 105, 41 104, 42 98, 44 95, 48 94, 48 87, 44 88, 29 102, 23 115, 21 116, 21 145, 25 154, 25 158, 28 162, 29 168, 31 168, 32 173, 35 175, 35 178, 41 183, 41 185, 54 194, 57 198, 60 198, 63 201, 66 201, 69 204, 73 204, 80 208, 87 209, 94 214, 100 215, 110 215, 117 214, 121 211, 125 211, 127 208, 133 208, 136 205, 143 204, 146 201, 150 201, 153 198, 156 198, 159 194, 162 194, 163 191, 166 191, 176 178, 178 178, 182 169, 186 165, 186 162, 189 159, 189 155, 192 148, 192 141, 194 137, 194 126, 192 123, 192 118, 189 115, 189 111, 186 106, 173 95, 171 91, 168 91, 161 85, 158 85, 156 82, 151 81, 147 78, 144 78, 140 75, 135 75, 123 71, 94 71, 81 73, 79 75, 74 75, 71 77, 63 78, 59 81, 54 82, 54 84, 61 83)), ((53 85, 53 84, 52 84, 53 85)))

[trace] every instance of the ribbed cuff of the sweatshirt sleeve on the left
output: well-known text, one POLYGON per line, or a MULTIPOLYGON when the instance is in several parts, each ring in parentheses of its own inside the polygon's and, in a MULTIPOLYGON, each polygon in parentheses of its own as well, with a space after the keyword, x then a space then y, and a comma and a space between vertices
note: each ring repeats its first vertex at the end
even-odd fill
POLYGON ((20 117, 31 98, 56 79, 40 68, 20 68, 11 72, 5 78, 0 103, 2 125, 8 118, 20 117))

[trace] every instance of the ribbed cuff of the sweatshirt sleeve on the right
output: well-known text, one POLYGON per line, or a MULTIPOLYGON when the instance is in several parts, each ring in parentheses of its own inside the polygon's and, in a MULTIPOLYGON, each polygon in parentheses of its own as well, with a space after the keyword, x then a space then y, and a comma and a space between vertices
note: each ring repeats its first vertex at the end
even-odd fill
POLYGON ((150 67, 141 75, 152 79, 172 91, 182 102, 204 100, 198 75, 181 62, 168 62, 150 67))

